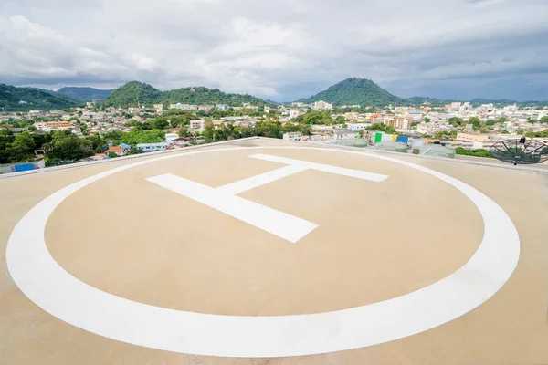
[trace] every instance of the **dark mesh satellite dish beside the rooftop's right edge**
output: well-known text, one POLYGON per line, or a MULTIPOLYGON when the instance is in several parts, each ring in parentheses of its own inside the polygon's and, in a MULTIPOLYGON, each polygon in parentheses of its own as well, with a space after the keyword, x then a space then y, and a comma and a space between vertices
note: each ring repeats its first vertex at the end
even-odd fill
POLYGON ((548 160, 548 144, 525 137, 493 144, 490 154, 502 162, 517 164, 540 163, 548 160))

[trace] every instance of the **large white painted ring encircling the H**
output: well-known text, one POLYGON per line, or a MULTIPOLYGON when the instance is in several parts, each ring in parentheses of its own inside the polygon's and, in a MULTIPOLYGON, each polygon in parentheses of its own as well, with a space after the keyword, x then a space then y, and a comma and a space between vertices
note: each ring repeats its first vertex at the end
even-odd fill
POLYGON ((17 287, 47 313, 92 333, 153 349, 223 357, 286 357, 357 349, 443 325, 492 297, 510 278, 520 239, 497 203, 466 183, 395 158, 314 147, 239 147, 190 151, 100 172, 52 193, 16 224, 6 261, 17 287), (219 316, 159 308, 90 287, 65 271, 47 251, 44 230, 59 203, 116 172, 150 162, 216 151, 308 149, 365 155, 426 172, 456 187, 476 204, 484 235, 476 253, 453 274, 401 297, 295 316, 219 316))

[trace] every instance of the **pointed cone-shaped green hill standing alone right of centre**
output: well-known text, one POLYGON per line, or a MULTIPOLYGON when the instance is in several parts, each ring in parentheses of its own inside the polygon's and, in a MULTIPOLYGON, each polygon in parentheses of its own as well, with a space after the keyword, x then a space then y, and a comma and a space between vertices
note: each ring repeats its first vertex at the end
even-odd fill
POLYGON ((315 101, 327 101, 333 105, 384 106, 403 104, 405 99, 390 94, 385 89, 366 78, 347 78, 328 89, 307 99, 298 101, 307 104, 315 101))

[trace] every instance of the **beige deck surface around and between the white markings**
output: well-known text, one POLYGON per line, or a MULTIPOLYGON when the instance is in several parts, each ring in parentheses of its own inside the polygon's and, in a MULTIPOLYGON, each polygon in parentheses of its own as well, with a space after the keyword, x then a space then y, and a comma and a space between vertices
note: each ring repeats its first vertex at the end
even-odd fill
MULTIPOLYGON (((280 145, 307 146, 254 140, 204 149, 280 145)), ((389 176, 373 183, 307 171, 240 194, 319 224, 296 244, 145 180, 171 172, 217 187, 281 166, 248 158, 257 152, 177 152, 180 157, 92 183, 51 215, 47 248, 70 274, 119 297, 199 313, 275 316, 404 295, 453 273, 479 246, 481 217, 464 194, 423 172, 370 157, 260 150, 389 176)), ((0 179, 0 364, 548 363, 548 176, 400 158, 469 183, 500 204, 518 229, 522 254, 513 276, 465 316, 373 347, 271 360, 163 352, 72 327, 18 290, 5 266, 5 245, 21 217, 50 193, 136 161, 120 160, 0 179)))

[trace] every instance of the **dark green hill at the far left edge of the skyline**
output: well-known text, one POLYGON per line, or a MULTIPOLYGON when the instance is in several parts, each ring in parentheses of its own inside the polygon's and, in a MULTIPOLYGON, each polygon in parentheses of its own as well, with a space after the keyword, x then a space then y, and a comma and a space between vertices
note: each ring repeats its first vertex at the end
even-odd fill
POLYGON ((0 84, 0 110, 59 110, 79 106, 79 101, 51 91, 0 84))

